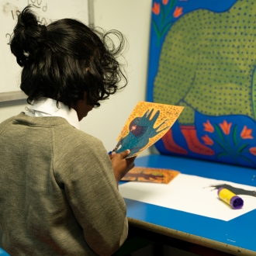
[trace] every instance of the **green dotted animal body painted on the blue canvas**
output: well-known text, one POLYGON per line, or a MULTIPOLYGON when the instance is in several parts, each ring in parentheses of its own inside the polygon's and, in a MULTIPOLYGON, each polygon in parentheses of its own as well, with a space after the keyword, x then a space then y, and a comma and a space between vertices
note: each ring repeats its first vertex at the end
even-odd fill
POLYGON ((195 111, 256 119, 256 1, 238 0, 227 12, 199 9, 178 19, 165 37, 154 102, 185 106, 178 122, 195 123, 195 111))

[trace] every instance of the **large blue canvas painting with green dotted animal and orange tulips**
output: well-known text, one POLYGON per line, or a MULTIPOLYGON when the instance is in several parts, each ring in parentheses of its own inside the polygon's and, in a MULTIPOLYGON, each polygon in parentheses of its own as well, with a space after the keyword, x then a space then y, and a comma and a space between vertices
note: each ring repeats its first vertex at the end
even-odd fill
POLYGON ((153 0, 147 101, 185 106, 162 154, 256 167, 255 0, 153 0))

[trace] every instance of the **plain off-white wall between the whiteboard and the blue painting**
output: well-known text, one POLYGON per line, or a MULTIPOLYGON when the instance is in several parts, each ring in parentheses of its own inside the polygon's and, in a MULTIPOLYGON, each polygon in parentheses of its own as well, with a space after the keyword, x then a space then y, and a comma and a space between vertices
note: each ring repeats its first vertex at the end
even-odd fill
MULTIPOLYGON (((81 130, 98 137, 107 150, 112 150, 130 112, 137 102, 146 99, 151 0, 94 0, 94 11, 95 26, 117 29, 129 42, 125 54, 128 85, 81 121, 81 130)), ((25 106, 25 100, 0 102, 0 122, 24 111, 25 106)))

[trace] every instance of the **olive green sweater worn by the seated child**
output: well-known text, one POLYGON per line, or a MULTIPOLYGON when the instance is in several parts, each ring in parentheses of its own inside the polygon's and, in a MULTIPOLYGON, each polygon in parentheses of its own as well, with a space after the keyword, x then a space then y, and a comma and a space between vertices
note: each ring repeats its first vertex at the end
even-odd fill
POLYGON ((19 255, 110 255, 126 206, 102 143, 61 117, 23 112, 0 124, 0 226, 19 255))

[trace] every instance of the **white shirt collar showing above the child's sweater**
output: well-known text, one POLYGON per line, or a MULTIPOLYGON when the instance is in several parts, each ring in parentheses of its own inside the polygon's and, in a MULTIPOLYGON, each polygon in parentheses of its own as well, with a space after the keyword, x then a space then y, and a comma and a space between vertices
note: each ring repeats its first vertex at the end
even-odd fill
POLYGON ((68 109, 68 106, 59 102, 57 108, 57 101, 55 99, 43 98, 33 102, 32 106, 26 107, 27 116, 60 116, 67 120, 71 126, 80 130, 78 114, 74 109, 68 109))

